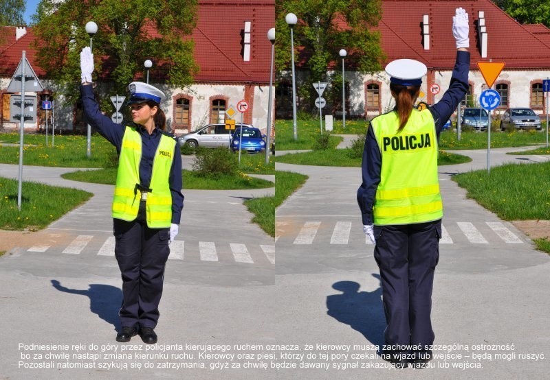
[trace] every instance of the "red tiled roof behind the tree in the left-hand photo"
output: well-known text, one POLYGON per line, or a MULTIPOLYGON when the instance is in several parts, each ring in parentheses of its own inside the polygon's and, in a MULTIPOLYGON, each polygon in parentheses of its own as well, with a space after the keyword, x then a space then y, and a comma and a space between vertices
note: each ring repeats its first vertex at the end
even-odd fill
MULTIPOLYGON (((200 69, 195 82, 254 82, 270 80, 271 43, 267 31, 275 26, 275 0, 199 1, 197 27, 193 30, 195 61, 200 69), (241 56, 241 31, 252 21, 250 61, 241 56)), ((1 27, 0 76, 13 75, 25 50, 36 75, 45 75, 35 61, 31 48, 32 28, 15 41, 15 27, 1 27)), ((156 32, 148 31, 151 36, 156 32)))

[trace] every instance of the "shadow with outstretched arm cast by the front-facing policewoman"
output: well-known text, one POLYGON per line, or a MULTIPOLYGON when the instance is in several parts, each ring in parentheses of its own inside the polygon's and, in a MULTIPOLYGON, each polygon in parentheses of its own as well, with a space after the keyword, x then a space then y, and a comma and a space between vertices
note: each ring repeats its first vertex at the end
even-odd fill
POLYGON ((122 290, 118 287, 103 284, 89 284, 89 289, 78 290, 64 287, 57 280, 52 280, 52 285, 60 292, 80 294, 90 299, 90 311, 99 318, 112 324, 116 331, 120 330, 120 318, 118 310, 122 304, 122 290))

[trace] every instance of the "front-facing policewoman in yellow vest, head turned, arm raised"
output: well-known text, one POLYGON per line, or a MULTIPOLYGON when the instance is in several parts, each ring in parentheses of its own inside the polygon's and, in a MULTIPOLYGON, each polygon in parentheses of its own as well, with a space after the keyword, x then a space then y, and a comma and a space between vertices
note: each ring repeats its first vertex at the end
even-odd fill
POLYGON ((113 123, 100 112, 92 91, 94 57, 89 47, 80 53, 80 67, 85 118, 118 153, 111 209, 115 257, 122 274, 122 329, 116 340, 129 342, 139 333, 143 342, 156 343, 168 244, 178 233, 184 202, 179 145, 165 131, 162 91, 131 83, 127 105, 132 121, 113 123))

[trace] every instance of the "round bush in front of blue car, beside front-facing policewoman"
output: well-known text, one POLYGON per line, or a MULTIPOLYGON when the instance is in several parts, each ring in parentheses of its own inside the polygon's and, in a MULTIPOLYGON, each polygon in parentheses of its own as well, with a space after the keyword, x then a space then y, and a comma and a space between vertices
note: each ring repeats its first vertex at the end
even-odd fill
POLYGON ((203 177, 218 178, 223 175, 236 176, 239 173, 239 162, 235 154, 226 147, 197 149, 192 169, 203 177))

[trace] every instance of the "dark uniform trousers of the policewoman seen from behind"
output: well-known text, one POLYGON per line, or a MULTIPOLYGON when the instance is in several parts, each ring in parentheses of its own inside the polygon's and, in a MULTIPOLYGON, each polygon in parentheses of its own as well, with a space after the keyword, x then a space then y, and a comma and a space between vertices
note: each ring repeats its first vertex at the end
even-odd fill
POLYGON ((388 325, 384 331, 386 344, 433 344, 430 313, 434 270, 439 261, 441 219, 375 226, 374 235, 374 257, 380 268, 388 325))

